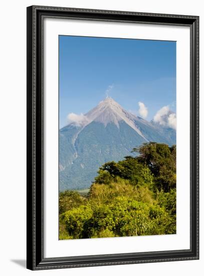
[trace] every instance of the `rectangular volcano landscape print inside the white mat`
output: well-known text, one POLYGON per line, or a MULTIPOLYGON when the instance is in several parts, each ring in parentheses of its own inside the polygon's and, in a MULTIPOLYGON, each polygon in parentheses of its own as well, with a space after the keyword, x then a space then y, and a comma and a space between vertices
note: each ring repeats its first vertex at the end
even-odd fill
POLYGON ((59 239, 176 233, 175 54, 59 36, 59 239))

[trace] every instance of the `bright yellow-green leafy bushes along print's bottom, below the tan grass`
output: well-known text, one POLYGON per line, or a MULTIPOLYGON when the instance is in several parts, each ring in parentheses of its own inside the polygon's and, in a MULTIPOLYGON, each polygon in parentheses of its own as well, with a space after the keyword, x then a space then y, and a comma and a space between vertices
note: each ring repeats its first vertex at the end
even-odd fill
POLYGON ((109 204, 80 206, 63 214, 68 237, 159 235, 173 232, 172 219, 159 205, 128 197, 109 204))

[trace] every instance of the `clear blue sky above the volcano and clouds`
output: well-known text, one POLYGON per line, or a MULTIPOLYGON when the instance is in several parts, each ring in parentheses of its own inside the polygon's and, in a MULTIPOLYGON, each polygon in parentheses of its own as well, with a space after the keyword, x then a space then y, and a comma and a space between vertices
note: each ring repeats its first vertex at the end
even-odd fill
POLYGON ((163 106, 175 112, 176 42, 59 36, 59 123, 86 113, 108 95, 128 111, 138 102, 151 120, 163 106))

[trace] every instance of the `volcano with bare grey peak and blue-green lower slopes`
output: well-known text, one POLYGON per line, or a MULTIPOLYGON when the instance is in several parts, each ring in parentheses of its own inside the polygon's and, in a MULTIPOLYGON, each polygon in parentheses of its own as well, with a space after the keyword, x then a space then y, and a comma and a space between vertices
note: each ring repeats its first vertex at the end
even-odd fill
POLYGON ((167 133, 124 110, 106 98, 59 132, 60 190, 85 189, 108 161, 130 155, 132 148, 148 141, 174 144, 167 133))

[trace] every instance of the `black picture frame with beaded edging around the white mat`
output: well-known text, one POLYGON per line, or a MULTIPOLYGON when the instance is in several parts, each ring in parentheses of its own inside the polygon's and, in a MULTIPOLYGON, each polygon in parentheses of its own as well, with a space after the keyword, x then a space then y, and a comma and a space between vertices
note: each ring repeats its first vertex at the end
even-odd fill
MULTIPOLYGON (((199 18, 197 16, 31 6, 27 8, 27 268, 117 265, 199 258, 199 18), (45 257, 44 254, 44 20, 184 26, 190 30, 190 248, 45 257)), ((49 172, 46 172, 47 174, 49 172)), ((58 184, 56 184, 58 185, 58 184)), ((57 222, 56 222, 57 223, 57 222)))

